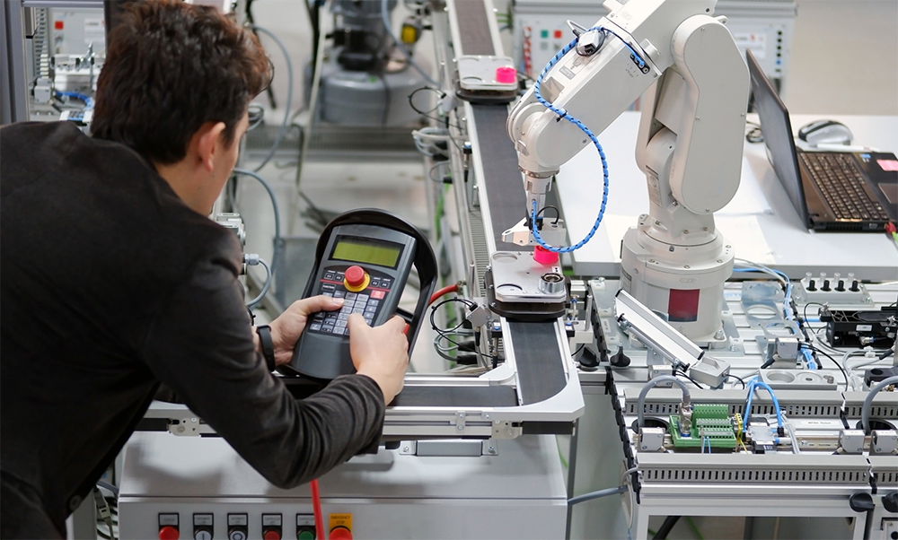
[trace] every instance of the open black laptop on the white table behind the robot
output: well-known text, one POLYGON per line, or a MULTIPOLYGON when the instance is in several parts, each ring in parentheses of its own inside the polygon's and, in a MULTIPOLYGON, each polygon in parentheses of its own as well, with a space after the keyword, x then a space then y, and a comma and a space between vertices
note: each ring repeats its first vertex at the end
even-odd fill
POLYGON ((755 109, 779 182, 808 229, 885 231, 898 220, 898 158, 890 152, 806 152, 796 148, 788 110, 746 51, 755 109))

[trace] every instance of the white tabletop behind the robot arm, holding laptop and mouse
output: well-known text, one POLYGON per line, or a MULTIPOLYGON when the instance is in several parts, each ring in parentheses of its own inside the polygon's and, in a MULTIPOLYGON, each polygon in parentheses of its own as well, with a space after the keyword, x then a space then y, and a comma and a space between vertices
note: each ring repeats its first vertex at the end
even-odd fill
MULTIPOLYGON (((849 126, 853 144, 898 152, 898 117, 792 115, 793 129, 820 118, 849 126)), ((755 115, 749 119, 757 122, 755 115)), ((573 253, 579 275, 618 275, 623 233, 636 225, 640 213, 648 212, 646 179, 634 150, 638 127, 639 113, 625 112, 598 136, 609 166, 608 205, 593 239, 573 253)), ((592 144, 561 168, 558 189, 569 240, 577 242, 592 228, 601 203, 602 162, 592 144)), ((898 279, 898 246, 885 233, 813 232, 804 227, 767 161, 764 144, 745 144, 739 191, 715 219, 735 246, 736 257, 774 266, 792 277, 823 271, 854 272, 876 281, 898 279)))

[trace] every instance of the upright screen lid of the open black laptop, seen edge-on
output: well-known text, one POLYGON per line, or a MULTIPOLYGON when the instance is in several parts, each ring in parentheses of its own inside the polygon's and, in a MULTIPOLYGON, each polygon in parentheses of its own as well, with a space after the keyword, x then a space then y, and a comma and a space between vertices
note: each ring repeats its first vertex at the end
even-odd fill
POLYGON ((752 92, 754 94, 754 106, 761 119, 761 132, 764 135, 764 144, 770 152, 770 161, 773 170, 777 173, 779 183, 786 189, 789 200, 795 206, 798 215, 807 227, 811 226, 810 217, 807 215, 805 203, 805 189, 801 185, 801 175, 798 172, 798 158, 795 150, 795 138, 792 136, 792 124, 788 119, 788 110, 782 100, 779 99, 773 84, 761 69, 761 65, 754 59, 751 50, 745 51, 748 61, 748 72, 752 76, 752 92))

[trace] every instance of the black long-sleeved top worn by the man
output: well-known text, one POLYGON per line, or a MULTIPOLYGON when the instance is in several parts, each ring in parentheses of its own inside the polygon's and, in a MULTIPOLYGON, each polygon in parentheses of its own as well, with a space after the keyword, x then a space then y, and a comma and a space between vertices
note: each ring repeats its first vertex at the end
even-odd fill
POLYGON ((159 382, 280 487, 379 440, 374 380, 297 402, 266 370, 240 259, 128 148, 0 128, 0 539, 64 535, 159 382))

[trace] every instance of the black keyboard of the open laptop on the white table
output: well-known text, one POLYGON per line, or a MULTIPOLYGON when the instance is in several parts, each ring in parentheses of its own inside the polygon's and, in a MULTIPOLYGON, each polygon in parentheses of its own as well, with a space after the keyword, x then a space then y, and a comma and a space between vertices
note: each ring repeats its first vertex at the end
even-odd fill
POLYGON ((882 205, 864 190, 864 179, 850 153, 799 152, 837 219, 888 221, 882 205))

